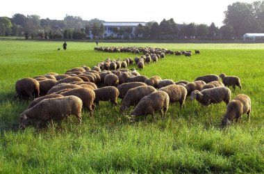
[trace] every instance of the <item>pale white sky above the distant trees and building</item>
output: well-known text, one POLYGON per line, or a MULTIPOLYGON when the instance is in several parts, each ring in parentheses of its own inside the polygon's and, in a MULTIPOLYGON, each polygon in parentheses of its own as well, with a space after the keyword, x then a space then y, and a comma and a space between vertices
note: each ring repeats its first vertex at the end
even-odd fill
MULTIPOLYGON (((239 0, 252 3, 258 0, 239 0)), ((173 18, 177 24, 208 24, 222 26, 224 11, 233 0, 3 0, 0 16, 12 17, 15 13, 39 15, 41 19, 64 19, 67 15, 79 16, 83 20, 94 18, 106 22, 150 22, 160 23, 173 18)))

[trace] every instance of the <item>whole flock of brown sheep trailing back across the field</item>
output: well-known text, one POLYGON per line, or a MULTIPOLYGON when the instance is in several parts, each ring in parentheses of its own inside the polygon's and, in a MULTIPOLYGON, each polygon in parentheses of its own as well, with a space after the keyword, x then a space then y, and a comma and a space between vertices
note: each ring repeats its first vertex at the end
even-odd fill
MULTIPOLYGON (((123 51, 118 49, 119 51, 116 51, 114 48, 115 51, 111 52, 123 51)), ((130 48, 129 52, 131 50, 130 48)), ((127 111, 130 106, 135 106, 130 113, 133 121, 138 116, 149 114, 155 120, 156 112, 160 112, 165 118, 170 103, 179 102, 181 108, 184 107, 186 97, 189 95, 190 100, 197 100, 205 106, 225 102, 227 106, 222 118, 222 127, 229 125, 235 118, 238 121, 244 113, 247 113, 250 119, 250 98, 240 94, 231 100, 231 90, 228 87, 232 86, 233 90, 236 90, 238 86, 241 89, 238 77, 209 74, 197 77, 193 82, 172 81, 161 79, 159 76, 149 78, 140 75, 135 69, 121 68, 126 68, 135 61, 138 68, 142 69, 144 63, 148 61, 150 63, 155 58, 156 60, 165 58, 167 49, 133 47, 133 50, 135 53, 143 52, 145 56, 124 60, 106 58, 106 61, 97 63, 92 69, 83 66, 67 70, 65 74, 50 72, 38 77, 19 79, 15 84, 16 96, 24 100, 35 98, 19 116, 19 125, 25 128, 29 120, 37 120, 40 125, 47 120, 62 119, 69 115, 76 116, 81 122, 83 108, 88 109, 92 116, 95 104, 110 101, 116 106, 117 97, 122 99, 121 111, 127 111), (140 62, 143 66, 140 66, 140 62)))

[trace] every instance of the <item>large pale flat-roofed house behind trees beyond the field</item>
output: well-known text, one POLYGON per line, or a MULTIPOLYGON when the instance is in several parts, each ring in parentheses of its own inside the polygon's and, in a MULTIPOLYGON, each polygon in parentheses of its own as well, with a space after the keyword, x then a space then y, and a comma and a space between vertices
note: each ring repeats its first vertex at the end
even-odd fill
POLYGON ((142 35, 135 35, 135 29, 138 24, 145 26, 147 22, 103 22, 103 38, 135 38, 142 35))

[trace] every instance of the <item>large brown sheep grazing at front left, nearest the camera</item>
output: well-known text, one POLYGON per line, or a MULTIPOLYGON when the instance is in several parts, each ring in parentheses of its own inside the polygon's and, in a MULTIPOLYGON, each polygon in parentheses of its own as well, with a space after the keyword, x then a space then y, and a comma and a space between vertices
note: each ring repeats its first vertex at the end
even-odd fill
POLYGON ((57 97, 42 100, 30 109, 26 109, 19 116, 19 125, 25 128, 28 120, 38 120, 41 122, 53 119, 63 119, 69 115, 74 115, 81 123, 81 108, 83 102, 79 97, 57 97))

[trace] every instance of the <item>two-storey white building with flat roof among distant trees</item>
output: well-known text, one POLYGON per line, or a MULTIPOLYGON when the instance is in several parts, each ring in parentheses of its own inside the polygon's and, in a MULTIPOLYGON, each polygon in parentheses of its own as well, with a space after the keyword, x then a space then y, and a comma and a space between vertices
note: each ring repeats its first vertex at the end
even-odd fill
POLYGON ((138 24, 142 24, 142 26, 145 26, 146 22, 103 22, 104 24, 104 35, 103 38, 107 38, 112 36, 113 38, 135 38, 135 29, 138 26, 138 24), (127 29, 131 28, 132 32, 130 34, 124 33, 124 34, 117 34, 113 32, 114 28, 120 29, 127 29))

